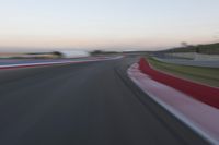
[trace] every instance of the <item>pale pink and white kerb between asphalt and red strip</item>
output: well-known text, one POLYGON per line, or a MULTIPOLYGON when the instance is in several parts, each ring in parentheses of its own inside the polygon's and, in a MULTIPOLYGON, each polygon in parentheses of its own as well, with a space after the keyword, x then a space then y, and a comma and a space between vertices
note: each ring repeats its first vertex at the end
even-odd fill
POLYGON ((129 77, 155 102, 212 144, 219 144, 219 110, 170 86, 151 80, 138 64, 128 69, 129 77))

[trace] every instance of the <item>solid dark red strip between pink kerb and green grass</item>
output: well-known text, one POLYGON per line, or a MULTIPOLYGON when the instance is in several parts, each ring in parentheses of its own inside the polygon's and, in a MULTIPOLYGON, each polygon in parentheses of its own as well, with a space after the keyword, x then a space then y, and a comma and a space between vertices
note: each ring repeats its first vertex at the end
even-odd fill
POLYGON ((187 80, 175 77, 166 73, 162 73, 152 69, 149 62, 141 58, 139 61, 139 69, 151 76, 153 80, 166 84, 175 89, 178 89, 205 104, 219 109, 219 88, 206 86, 194 83, 187 80))

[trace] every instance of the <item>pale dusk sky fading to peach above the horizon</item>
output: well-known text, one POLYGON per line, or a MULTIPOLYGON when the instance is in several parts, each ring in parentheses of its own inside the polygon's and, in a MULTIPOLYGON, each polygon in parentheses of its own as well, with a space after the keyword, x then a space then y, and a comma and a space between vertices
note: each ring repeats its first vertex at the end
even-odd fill
POLYGON ((155 50, 219 40, 219 0, 0 0, 0 49, 155 50))

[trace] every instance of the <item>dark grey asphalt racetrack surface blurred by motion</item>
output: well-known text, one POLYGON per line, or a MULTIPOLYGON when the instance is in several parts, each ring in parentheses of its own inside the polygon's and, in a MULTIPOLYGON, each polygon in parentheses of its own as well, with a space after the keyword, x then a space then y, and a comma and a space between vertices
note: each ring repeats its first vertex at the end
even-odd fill
POLYGON ((0 144, 207 144, 127 77, 131 62, 1 70, 0 144))

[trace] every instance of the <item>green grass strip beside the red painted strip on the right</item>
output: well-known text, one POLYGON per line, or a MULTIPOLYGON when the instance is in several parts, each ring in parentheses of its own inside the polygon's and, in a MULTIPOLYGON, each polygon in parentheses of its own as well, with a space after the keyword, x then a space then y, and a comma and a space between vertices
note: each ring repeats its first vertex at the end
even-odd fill
POLYGON ((210 86, 219 87, 219 69, 218 68, 203 68, 203 67, 187 67, 172 63, 161 62, 153 58, 148 59, 153 68, 164 71, 175 76, 184 77, 210 86))

